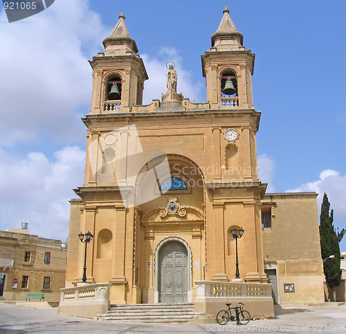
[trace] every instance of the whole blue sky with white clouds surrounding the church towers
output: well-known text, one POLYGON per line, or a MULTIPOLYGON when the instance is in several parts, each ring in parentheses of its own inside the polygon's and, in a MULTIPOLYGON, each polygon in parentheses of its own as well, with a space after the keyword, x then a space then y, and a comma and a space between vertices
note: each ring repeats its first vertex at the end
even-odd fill
POLYGON ((68 201, 83 184, 87 60, 103 50, 120 12, 149 75, 143 102, 165 92, 168 61, 178 91, 204 102, 201 55, 225 5, 256 54, 261 180, 271 192, 326 192, 336 225, 346 228, 346 1, 55 0, 11 24, 0 11, 0 229, 28 221, 31 232, 66 240, 68 201))

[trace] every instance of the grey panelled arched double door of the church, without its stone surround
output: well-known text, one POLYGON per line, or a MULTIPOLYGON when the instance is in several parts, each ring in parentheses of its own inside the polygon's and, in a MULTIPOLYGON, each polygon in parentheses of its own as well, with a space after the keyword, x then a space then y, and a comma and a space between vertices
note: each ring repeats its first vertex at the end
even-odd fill
POLYGON ((158 301, 188 301, 188 250, 179 241, 165 243, 158 255, 158 301))

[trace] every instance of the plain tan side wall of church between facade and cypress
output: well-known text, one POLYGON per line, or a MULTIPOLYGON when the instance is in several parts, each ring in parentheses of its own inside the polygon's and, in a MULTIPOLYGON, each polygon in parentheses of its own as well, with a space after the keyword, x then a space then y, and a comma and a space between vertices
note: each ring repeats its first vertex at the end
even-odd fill
POLYGON ((324 277, 316 194, 266 194, 262 202, 271 207, 271 228, 263 229, 264 263, 266 270, 277 271, 279 301, 322 303, 324 277))

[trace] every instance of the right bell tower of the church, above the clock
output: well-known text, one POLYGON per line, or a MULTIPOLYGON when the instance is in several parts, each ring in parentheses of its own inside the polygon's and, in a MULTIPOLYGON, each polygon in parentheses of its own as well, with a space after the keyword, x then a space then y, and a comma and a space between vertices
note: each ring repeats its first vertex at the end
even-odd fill
POLYGON ((219 28, 212 35, 212 46, 201 56, 207 99, 211 109, 253 109, 251 75, 255 55, 243 46, 243 35, 229 12, 226 6, 219 28))

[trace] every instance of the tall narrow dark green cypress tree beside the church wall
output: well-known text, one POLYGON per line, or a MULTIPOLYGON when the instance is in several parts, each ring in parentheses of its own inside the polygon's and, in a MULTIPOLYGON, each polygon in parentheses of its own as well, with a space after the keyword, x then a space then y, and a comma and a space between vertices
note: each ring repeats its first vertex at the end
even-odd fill
POLYGON ((330 203, 327 194, 324 194, 320 214, 320 243, 322 259, 334 255, 334 259, 328 259, 323 263, 323 271, 329 288, 333 289, 333 299, 336 301, 335 288, 340 285, 340 248, 338 236, 333 225, 333 210, 329 214, 330 203))

